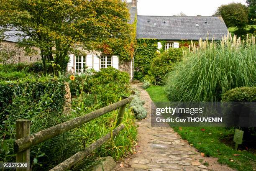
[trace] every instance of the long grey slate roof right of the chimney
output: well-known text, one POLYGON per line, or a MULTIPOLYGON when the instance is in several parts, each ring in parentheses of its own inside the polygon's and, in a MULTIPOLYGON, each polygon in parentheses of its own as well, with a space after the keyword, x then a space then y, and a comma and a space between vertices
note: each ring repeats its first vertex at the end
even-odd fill
POLYGON ((138 15, 137 39, 199 40, 200 38, 220 40, 228 33, 221 16, 145 16, 138 15))

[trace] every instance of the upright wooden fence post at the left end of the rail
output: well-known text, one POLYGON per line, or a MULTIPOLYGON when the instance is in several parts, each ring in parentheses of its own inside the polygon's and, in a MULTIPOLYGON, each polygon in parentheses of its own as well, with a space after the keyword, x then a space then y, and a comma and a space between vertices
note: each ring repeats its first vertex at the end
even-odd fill
MULTIPOLYGON (((30 121, 25 119, 16 120, 16 140, 26 137, 30 134, 30 121)), ((16 168, 16 171, 29 171, 29 148, 16 154, 16 162, 27 163, 27 168, 16 168)))

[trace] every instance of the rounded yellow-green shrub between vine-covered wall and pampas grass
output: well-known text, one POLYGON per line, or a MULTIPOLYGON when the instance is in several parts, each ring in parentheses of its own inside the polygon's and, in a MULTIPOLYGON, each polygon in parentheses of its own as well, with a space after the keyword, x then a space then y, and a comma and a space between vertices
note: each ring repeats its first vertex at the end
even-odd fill
POLYGON ((174 65, 183 57, 182 48, 169 48, 160 56, 153 59, 150 73, 155 77, 156 82, 161 82, 164 76, 173 70, 174 65))

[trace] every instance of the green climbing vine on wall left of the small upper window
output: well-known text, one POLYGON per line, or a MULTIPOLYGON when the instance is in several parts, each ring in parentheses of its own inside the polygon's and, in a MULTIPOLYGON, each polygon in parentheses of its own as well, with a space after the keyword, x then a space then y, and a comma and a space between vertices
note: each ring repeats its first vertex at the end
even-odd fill
POLYGON ((134 79, 141 80, 148 74, 151 61, 158 56, 157 40, 138 39, 134 52, 134 79))

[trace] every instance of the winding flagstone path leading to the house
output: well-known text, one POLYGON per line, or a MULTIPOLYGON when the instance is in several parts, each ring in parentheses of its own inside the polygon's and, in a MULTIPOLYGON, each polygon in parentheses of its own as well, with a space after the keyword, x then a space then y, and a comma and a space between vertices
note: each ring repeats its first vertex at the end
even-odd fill
POLYGON ((148 117, 137 122, 136 153, 119 162, 114 171, 234 171, 220 165, 215 158, 202 157, 168 125, 151 127, 152 101, 141 84, 133 84, 133 87, 141 91, 141 100, 146 101, 144 107, 148 111, 148 117), (202 164, 205 162, 209 166, 202 164))

